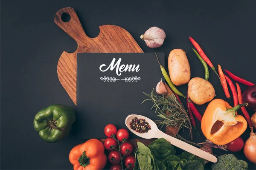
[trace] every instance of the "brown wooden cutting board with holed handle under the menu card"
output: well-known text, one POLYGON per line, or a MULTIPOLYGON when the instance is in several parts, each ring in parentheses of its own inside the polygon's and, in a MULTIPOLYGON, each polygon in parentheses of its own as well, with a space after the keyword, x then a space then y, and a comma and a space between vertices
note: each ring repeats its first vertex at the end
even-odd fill
MULTIPOLYGON (((76 51, 73 53, 64 51, 57 65, 58 79, 75 104, 77 53, 143 53, 131 34, 119 26, 100 26, 98 37, 87 37, 73 8, 59 10, 55 15, 54 22, 77 42, 76 51), (62 14, 69 14, 70 20, 62 21, 62 14)), ((167 132, 171 134, 170 131, 167 132)), ((145 141, 150 142, 150 140, 145 141)))

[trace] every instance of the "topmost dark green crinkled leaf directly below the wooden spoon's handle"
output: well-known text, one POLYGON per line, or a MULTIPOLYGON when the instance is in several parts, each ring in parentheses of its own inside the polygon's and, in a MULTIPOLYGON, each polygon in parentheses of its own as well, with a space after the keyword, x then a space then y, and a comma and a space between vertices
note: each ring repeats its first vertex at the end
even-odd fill
POLYGON ((167 156, 176 153, 176 150, 174 149, 172 144, 163 138, 151 142, 151 144, 148 145, 148 148, 151 150, 151 152, 157 159, 164 159, 167 156))

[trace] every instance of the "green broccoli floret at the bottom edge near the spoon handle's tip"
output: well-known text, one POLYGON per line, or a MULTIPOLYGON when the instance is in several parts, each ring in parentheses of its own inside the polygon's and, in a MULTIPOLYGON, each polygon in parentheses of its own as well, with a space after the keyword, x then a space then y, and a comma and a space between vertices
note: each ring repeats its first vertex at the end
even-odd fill
POLYGON ((247 162, 238 160, 233 154, 225 154, 217 158, 218 161, 212 164, 212 170, 247 170, 247 162))

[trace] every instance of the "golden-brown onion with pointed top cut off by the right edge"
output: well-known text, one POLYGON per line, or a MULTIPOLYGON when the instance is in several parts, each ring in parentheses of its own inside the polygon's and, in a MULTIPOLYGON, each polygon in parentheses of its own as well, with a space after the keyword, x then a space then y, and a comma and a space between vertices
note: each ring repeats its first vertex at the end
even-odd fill
POLYGON ((253 133, 253 127, 251 127, 249 139, 244 144, 244 155, 249 161, 256 164, 256 133, 253 133))

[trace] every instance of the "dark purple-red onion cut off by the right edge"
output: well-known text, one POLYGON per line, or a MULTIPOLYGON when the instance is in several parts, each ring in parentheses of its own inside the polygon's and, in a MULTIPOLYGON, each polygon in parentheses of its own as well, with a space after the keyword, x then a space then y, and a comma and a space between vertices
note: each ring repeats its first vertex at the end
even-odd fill
POLYGON ((256 85, 248 87, 242 96, 243 103, 248 103, 247 108, 256 111, 256 85))

